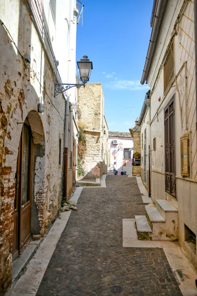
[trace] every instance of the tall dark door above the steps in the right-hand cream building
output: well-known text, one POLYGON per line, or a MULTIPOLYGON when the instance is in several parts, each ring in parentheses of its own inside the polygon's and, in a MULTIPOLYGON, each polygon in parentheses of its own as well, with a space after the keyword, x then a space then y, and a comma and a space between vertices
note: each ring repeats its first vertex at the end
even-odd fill
POLYGON ((164 109, 165 191, 176 198, 174 97, 164 109))

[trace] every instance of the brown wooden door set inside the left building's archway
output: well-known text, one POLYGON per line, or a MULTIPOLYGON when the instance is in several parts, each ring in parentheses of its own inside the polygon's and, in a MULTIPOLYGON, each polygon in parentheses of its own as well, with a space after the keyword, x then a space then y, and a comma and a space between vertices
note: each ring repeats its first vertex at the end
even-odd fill
POLYGON ((30 240, 32 211, 32 134, 28 121, 23 125, 19 144, 16 195, 14 209, 14 235, 12 254, 21 254, 30 240))

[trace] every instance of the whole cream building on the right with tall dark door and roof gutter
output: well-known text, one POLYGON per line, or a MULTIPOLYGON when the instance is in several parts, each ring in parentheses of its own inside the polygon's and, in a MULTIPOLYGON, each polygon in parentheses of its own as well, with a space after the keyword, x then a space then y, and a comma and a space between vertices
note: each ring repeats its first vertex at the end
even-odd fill
POLYGON ((159 211, 163 209, 160 213, 170 217, 168 221, 163 216, 162 227, 155 223, 150 236, 178 238, 197 268, 196 5, 196 1, 154 1, 141 83, 146 81, 151 89, 152 199, 159 211))

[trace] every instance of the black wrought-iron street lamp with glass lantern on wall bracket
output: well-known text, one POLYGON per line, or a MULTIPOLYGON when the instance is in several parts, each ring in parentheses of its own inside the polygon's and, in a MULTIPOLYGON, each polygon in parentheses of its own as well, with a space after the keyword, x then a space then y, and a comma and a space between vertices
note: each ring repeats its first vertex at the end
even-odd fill
POLYGON ((74 86, 78 88, 83 85, 83 87, 85 87, 85 84, 90 79, 90 74, 93 69, 93 63, 88 59, 88 56, 83 56, 83 59, 80 59, 80 61, 77 62, 77 66, 79 69, 80 80, 82 83, 81 84, 54 83, 54 97, 56 97, 58 94, 63 93, 74 86))

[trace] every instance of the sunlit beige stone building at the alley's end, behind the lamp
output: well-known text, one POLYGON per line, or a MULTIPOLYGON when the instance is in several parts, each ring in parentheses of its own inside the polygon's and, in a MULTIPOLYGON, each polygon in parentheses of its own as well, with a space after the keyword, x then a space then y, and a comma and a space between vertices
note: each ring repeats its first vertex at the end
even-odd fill
POLYGON ((85 178, 100 178, 107 173, 108 126, 104 117, 101 83, 87 83, 78 89, 78 124, 85 133, 83 156, 85 178))

